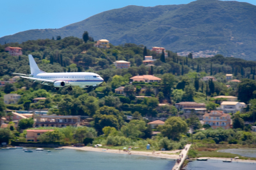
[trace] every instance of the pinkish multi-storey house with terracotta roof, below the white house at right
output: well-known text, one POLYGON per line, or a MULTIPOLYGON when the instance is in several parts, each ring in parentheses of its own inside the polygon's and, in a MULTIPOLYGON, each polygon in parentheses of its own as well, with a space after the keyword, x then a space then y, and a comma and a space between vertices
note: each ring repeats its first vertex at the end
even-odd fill
POLYGON ((211 113, 204 114, 204 124, 209 124, 213 129, 223 127, 229 129, 231 127, 231 115, 223 113, 220 110, 213 110, 211 113))

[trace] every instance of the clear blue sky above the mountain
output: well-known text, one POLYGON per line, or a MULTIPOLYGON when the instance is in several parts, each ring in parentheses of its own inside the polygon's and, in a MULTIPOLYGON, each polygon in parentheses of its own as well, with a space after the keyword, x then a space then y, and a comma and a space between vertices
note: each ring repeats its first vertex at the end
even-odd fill
MULTIPOLYGON (((1 2, 0 37, 31 29, 61 28, 127 5, 180 5, 195 0, 9 0, 1 2)), ((229 1, 229 0, 228 0, 229 1)), ((237 0, 256 5, 256 0, 237 0)))

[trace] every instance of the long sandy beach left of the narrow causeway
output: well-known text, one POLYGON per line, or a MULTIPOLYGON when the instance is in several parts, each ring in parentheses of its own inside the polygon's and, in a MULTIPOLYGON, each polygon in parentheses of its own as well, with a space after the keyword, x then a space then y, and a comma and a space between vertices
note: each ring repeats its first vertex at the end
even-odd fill
MULTIPOLYGON (((85 146, 85 147, 70 147, 65 146, 64 149, 77 149, 81 151, 96 151, 96 152, 104 152, 104 153, 118 153, 118 154, 129 154, 128 152, 119 151, 119 149, 105 149, 101 147, 91 147, 91 146, 85 146)), ((175 150, 175 151, 136 151, 136 150, 129 150, 131 155, 142 155, 142 156, 153 156, 157 158, 166 158, 166 159, 178 159, 178 155, 176 153, 180 153, 181 150, 175 150)))

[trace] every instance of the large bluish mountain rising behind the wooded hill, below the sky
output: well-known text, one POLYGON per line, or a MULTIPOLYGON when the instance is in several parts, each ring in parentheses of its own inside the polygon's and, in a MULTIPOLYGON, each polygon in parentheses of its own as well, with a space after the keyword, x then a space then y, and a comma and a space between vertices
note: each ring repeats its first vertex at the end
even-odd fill
POLYGON ((28 30, 0 43, 56 37, 81 37, 114 44, 163 46, 173 52, 217 50, 224 56, 256 59, 256 6, 237 1, 194 1, 187 5, 126 6, 101 12, 59 29, 28 30))

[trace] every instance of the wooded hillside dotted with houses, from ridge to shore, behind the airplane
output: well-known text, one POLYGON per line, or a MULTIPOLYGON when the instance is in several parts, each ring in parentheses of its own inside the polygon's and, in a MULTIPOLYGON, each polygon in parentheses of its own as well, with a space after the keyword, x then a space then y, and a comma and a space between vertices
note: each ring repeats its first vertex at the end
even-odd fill
POLYGON ((136 141, 137 146, 150 142, 168 150, 183 147, 190 140, 188 131, 194 131, 196 140, 216 144, 256 143, 251 132, 256 131, 256 62, 219 54, 195 59, 192 53, 182 57, 164 47, 113 46, 92 37, 10 43, 0 52, 1 128, 12 133, 1 142, 55 142, 47 135, 58 133, 67 144, 136 141), (54 91, 13 76, 30 73, 28 54, 41 70, 91 71, 104 82, 96 90, 54 91), (65 136, 71 127, 72 134, 83 129, 87 135, 65 136), (220 131, 226 134, 221 139, 220 131))

